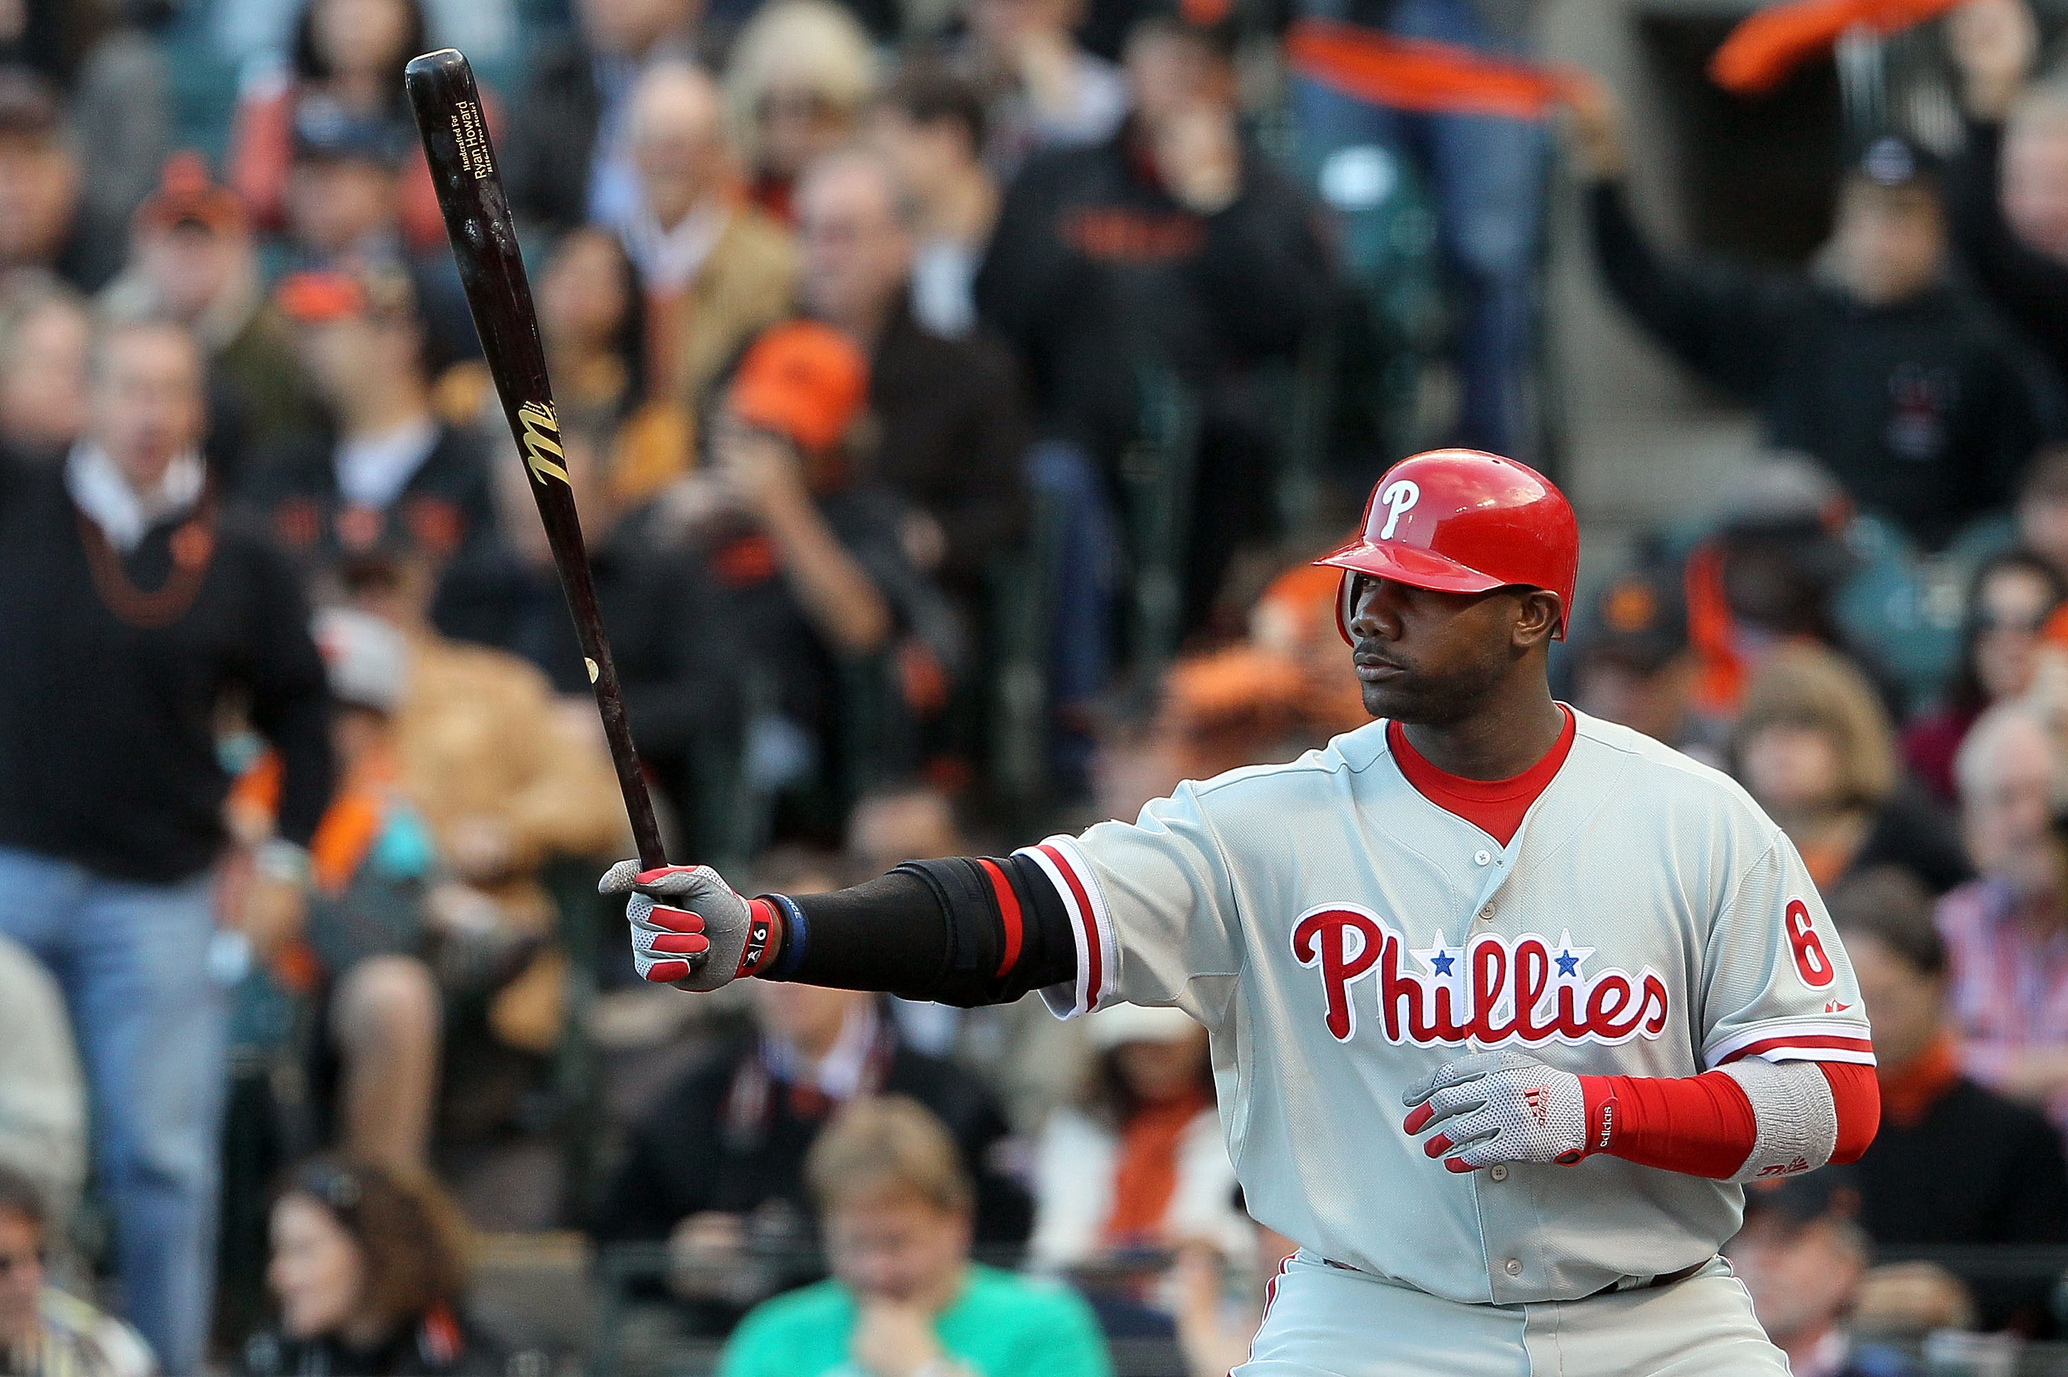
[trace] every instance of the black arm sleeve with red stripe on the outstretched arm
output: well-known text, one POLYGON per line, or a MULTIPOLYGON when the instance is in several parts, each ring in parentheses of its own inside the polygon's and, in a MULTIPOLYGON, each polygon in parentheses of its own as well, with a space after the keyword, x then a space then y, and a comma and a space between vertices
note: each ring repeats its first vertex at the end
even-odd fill
POLYGON ((910 860, 854 889, 771 897, 784 908, 786 930, 769 980, 968 1009, 1077 976, 1069 912, 1024 856, 910 860), (1013 904, 1001 901, 986 866, 1005 877, 1013 904))

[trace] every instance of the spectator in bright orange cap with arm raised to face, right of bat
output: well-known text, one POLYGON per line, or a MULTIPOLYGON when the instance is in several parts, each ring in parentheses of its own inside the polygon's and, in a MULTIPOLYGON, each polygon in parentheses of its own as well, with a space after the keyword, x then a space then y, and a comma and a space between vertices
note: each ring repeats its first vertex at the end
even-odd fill
MULTIPOLYGON (((776 691, 755 769, 782 790, 815 773, 835 722, 835 666, 898 649, 904 699, 933 707, 953 622, 904 554, 904 509, 856 482, 869 364, 840 331, 792 320, 744 354, 711 426, 709 461, 674 504, 740 657, 776 691)), ((817 819, 827 829, 838 819, 817 819)))

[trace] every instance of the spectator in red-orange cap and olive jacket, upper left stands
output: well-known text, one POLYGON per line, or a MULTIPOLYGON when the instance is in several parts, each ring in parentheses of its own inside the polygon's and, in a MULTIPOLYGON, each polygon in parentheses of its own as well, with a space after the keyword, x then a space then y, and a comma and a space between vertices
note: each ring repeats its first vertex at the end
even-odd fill
POLYGON ((250 447, 312 430, 323 414, 285 316, 261 289, 244 203, 199 153, 165 159, 130 219, 130 265, 101 294, 114 316, 170 316, 209 354, 209 463, 223 482, 250 447))

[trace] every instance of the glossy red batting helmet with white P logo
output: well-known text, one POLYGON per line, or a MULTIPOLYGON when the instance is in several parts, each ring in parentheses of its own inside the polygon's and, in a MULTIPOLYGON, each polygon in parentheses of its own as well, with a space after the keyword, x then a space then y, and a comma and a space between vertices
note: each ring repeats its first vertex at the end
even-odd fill
POLYGON ((1350 639, 1350 583, 1367 573, 1443 593, 1541 587, 1557 593, 1557 635, 1572 616, 1580 525, 1551 480, 1477 449, 1431 449, 1386 469, 1365 529, 1315 564, 1342 571, 1336 631, 1350 639))

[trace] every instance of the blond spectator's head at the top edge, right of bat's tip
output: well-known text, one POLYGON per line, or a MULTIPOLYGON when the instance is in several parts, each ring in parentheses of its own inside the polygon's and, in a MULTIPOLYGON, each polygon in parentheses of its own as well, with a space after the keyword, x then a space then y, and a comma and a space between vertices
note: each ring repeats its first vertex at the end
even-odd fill
POLYGON ((833 0, 773 0, 740 29, 726 116, 761 209, 790 221, 796 174, 854 136, 875 85, 869 31, 833 0))

